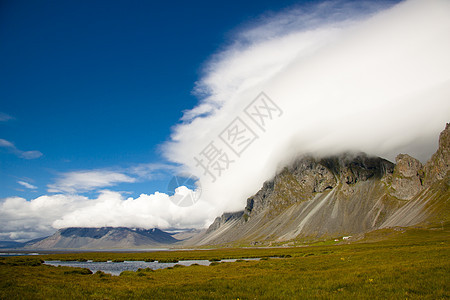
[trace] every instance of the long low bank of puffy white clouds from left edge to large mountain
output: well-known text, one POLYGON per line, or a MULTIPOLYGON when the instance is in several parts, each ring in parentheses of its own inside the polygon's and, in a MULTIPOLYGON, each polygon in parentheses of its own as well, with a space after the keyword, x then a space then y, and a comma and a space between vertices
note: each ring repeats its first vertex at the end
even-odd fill
MULTIPOLYGON (((192 192, 183 187, 172 197, 192 192)), ((175 205, 164 193, 124 198, 102 191, 95 199, 79 195, 46 195, 27 201, 0 200, 0 240, 30 240, 51 235, 58 228, 125 226, 138 228, 201 228, 218 213, 199 201, 190 207, 175 205)))

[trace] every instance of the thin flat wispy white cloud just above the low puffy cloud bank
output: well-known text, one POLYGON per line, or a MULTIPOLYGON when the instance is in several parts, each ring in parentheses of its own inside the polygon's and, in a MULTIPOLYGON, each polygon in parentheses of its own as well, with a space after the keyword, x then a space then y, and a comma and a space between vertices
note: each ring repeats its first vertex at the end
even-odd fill
POLYGON ((61 175, 54 184, 48 185, 50 193, 80 193, 99 188, 110 187, 123 182, 135 182, 126 174, 108 170, 85 170, 68 172, 61 175))

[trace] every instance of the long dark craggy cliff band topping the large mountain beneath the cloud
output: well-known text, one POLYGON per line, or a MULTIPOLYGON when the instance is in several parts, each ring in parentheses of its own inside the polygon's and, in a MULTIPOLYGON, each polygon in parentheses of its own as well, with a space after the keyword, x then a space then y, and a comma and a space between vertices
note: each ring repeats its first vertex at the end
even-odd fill
POLYGON ((381 179, 393 170, 393 163, 364 153, 322 159, 304 157, 265 182, 262 189, 247 200, 244 212, 252 217, 269 208, 275 215, 287 206, 309 200, 316 193, 332 190, 338 185, 341 185, 342 193, 350 194, 357 182, 381 179))

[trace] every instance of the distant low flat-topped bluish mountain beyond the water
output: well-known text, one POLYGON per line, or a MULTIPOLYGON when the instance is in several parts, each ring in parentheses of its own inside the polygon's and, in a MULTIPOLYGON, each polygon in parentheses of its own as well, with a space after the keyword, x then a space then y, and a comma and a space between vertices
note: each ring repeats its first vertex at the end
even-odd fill
POLYGON ((126 227, 81 228, 58 230, 52 236, 26 246, 32 249, 131 249, 164 247, 179 242, 171 234, 154 229, 126 227))

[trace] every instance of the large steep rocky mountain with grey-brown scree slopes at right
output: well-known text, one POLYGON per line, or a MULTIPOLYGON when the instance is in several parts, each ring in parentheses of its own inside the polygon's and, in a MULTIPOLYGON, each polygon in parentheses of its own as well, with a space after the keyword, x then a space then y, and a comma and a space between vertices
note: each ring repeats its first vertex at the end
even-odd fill
POLYGON ((448 222, 449 149, 447 124, 425 165, 407 154, 395 164, 364 153, 299 158, 248 198, 243 211, 216 218, 189 243, 264 244, 448 222))

